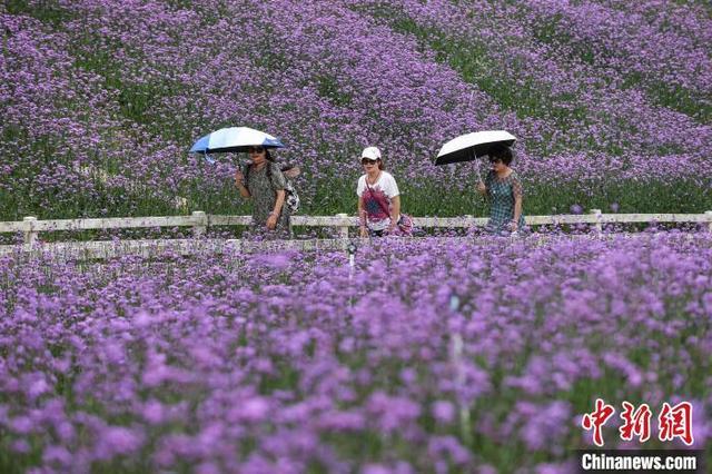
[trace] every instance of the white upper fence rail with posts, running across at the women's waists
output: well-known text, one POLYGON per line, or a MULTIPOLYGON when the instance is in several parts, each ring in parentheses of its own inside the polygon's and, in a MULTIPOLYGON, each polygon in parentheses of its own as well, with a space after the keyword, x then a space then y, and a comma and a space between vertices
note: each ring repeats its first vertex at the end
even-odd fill
MULTIPOLYGON (((210 226, 249 226, 250 216, 210 215, 195 211, 190 216, 159 217, 109 217, 88 219, 52 219, 38 220, 29 216, 19 221, 0 221, 0 234, 22 233, 23 244, 32 245, 39 233, 57 230, 92 230, 92 229, 129 229, 155 227, 191 227, 196 237, 204 235, 210 226)), ((652 224, 652 223, 691 223, 706 224, 712 231, 712 210, 704 214, 602 214, 592 209, 590 214, 526 216, 528 226, 589 224, 599 233, 604 224, 652 224)), ((415 217, 413 224, 419 228, 468 228, 484 226, 484 217, 415 217)), ((348 238, 348 229, 358 227, 358 218, 346 214, 336 216, 291 216, 293 227, 335 227, 340 238, 348 238)))

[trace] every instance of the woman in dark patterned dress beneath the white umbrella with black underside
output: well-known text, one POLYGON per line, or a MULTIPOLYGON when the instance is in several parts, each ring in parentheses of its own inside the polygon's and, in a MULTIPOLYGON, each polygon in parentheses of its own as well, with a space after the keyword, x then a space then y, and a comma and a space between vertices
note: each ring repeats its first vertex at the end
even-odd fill
POLYGON ((506 145, 495 145, 488 156, 492 170, 484 182, 477 182, 477 191, 491 201, 490 221, 485 230, 492 234, 522 230, 522 182, 510 168, 512 149, 506 145))

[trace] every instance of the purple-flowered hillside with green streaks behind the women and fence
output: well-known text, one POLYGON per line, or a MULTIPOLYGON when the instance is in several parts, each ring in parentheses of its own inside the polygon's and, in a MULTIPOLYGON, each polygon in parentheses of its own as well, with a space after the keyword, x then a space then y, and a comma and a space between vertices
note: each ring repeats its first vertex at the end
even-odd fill
POLYGON ((398 0, 4 2, 0 215, 239 214, 238 157, 265 129, 309 214, 350 211, 378 145, 415 215, 481 214, 463 132, 507 129, 528 214, 712 208, 704 2, 398 0))

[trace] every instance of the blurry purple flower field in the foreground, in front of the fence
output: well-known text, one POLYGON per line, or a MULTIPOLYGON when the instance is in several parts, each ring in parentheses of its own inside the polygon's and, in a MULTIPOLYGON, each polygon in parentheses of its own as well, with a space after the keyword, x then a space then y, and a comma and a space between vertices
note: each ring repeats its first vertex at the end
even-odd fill
MULTIPOLYGON (((712 239, 0 260, 3 472, 574 472, 595 398, 712 436, 712 239)), ((607 447, 631 447, 611 421, 607 447)), ((674 447, 653 437, 643 447, 674 447)))

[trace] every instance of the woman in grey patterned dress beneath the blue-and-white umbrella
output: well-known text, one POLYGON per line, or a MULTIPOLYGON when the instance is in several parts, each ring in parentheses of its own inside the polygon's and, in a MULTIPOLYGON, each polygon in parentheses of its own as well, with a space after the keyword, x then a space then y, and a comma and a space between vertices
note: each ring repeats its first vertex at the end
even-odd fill
POLYGON ((279 236, 289 234, 289 214, 285 209, 287 181, 279 166, 263 146, 250 146, 247 155, 251 164, 235 174, 235 184, 240 196, 251 198, 253 227, 274 231, 279 236))

